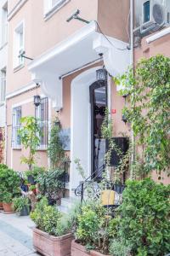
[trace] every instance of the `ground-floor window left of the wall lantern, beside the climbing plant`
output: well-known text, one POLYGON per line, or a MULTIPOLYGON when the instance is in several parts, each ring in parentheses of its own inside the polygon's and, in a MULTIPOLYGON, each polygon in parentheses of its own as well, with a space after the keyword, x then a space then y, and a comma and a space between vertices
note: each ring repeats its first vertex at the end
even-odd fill
POLYGON ((13 108, 12 120, 12 148, 20 148, 20 136, 18 131, 20 129, 21 107, 13 108))

